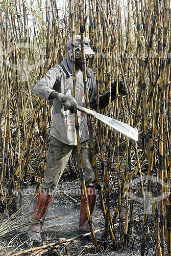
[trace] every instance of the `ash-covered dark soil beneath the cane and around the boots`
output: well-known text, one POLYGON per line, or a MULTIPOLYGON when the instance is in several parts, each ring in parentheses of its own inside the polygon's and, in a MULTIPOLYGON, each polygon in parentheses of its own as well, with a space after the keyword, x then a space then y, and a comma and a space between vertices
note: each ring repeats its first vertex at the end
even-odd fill
MULTIPOLYGON (((117 183, 117 182, 116 182, 117 183)), ((27 202, 31 197, 32 191, 34 191, 36 186, 28 186, 24 189, 25 195, 23 195, 23 203, 27 202)), ((113 216, 114 209, 116 208, 118 202, 118 195, 116 193, 117 189, 113 189, 110 197, 110 210, 113 216)), ((51 206, 47 212, 46 218, 58 216, 50 221, 45 221, 43 224, 42 238, 44 244, 55 243, 63 239, 70 239, 78 236, 78 226, 79 226, 79 212, 80 212, 80 182, 77 178, 71 178, 68 172, 65 172, 58 184, 55 191, 51 206), (64 193, 63 193, 64 191, 64 193), (61 216, 63 215, 63 216, 61 216), (61 216, 61 217, 59 217, 61 216)), ((33 210, 34 202, 27 204, 23 208, 23 214, 28 214, 33 210)), ((123 204, 123 217, 125 218, 125 202, 123 204)), ((21 216, 20 214, 18 216, 21 216)), ((15 217, 16 218, 16 217, 15 217)), ((97 252, 94 247, 94 242, 89 240, 77 239, 75 241, 70 241, 60 245, 60 248, 53 249, 44 253, 43 255, 112 255, 112 256, 136 256, 140 255, 140 247, 142 240, 142 223, 143 219, 143 205, 135 202, 134 204, 134 223, 133 223, 133 236, 130 236, 129 244, 127 248, 124 248, 123 238, 120 234, 120 224, 119 218, 116 218, 114 227, 116 241, 118 243, 119 249, 115 249, 112 240, 109 238, 108 250, 104 249, 104 240, 97 240, 100 246, 100 251, 97 252)), ((27 223, 31 221, 30 217, 23 219, 21 223, 27 223)), ((93 225, 94 229, 100 229, 104 227, 104 218, 102 214, 102 209, 100 206, 99 196, 97 196, 96 206, 93 215, 93 225)), ((14 226, 19 225, 18 223, 14 226)), ((151 209, 149 209, 149 232, 146 238, 145 244, 145 254, 146 256, 155 255, 155 233, 154 230, 154 219, 151 209)), ((24 251, 29 248, 33 248, 33 244, 27 238, 28 226, 13 230, 6 233, 1 237, 0 245, 0 255, 7 255, 9 251, 14 250, 13 253, 19 251, 24 251)), ((102 232, 103 233, 103 232, 102 232)), ((32 253, 26 253, 23 255, 36 255, 32 253)), ((37 254, 41 255, 41 254, 37 254)))

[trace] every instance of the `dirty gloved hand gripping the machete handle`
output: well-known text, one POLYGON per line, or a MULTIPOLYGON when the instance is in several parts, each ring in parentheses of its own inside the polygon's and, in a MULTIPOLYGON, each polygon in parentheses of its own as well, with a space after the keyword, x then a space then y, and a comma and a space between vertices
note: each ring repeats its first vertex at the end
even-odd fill
POLYGON ((75 100, 74 97, 69 95, 64 95, 62 93, 58 93, 57 91, 55 91, 50 94, 48 99, 51 100, 54 98, 58 99, 62 103, 64 111, 70 110, 72 114, 77 111, 77 101, 75 100))

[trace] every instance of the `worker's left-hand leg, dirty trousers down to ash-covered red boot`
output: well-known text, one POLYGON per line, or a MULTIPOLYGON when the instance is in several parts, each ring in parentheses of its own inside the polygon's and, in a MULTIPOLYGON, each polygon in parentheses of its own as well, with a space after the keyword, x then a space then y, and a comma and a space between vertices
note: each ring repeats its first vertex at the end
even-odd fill
MULTIPOLYGON (((50 137, 44 180, 41 185, 41 191, 37 197, 32 221, 45 218, 54 190, 68 162, 73 147, 74 146, 66 145, 58 141, 52 136, 50 137)), ((36 235, 32 240, 38 241, 41 239, 39 232, 41 231, 42 224, 43 222, 30 226, 29 237, 31 238, 36 235)))

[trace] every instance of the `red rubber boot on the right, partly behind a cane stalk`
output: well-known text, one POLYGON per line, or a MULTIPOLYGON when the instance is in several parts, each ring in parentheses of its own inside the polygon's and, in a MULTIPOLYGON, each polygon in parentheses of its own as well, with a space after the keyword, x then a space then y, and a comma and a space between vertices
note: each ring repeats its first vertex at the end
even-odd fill
MULTIPOLYGON (((86 187, 87 197, 89 202, 90 215, 92 217, 95 201, 96 201, 96 187, 86 187)), ((79 224, 80 233, 87 233, 90 231, 90 225, 87 219, 86 212, 86 203, 84 200, 84 190, 82 190, 81 195, 81 209, 80 209, 80 224, 79 224)))

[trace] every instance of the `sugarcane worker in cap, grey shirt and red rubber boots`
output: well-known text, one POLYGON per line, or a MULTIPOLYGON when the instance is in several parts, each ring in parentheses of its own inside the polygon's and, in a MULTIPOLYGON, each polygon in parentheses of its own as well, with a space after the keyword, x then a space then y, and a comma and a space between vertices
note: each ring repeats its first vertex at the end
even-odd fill
MULTIPOLYGON (((95 54, 89 45, 89 38, 84 37, 84 51, 86 56, 95 54)), ((41 184, 40 193, 37 196, 32 221, 44 219, 53 198, 54 191, 63 170, 71 154, 76 158, 80 166, 77 136, 75 127, 75 115, 78 104, 85 105, 84 84, 81 59, 81 37, 75 36, 75 68, 76 68, 76 94, 77 100, 73 97, 72 81, 72 40, 68 39, 67 59, 59 65, 48 70, 46 75, 40 79, 33 88, 33 92, 42 99, 53 101, 53 119, 50 129, 50 142, 48 147, 47 164, 44 172, 44 180, 41 184)), ((97 109, 96 104, 96 82, 93 72, 86 67, 87 89, 90 107, 97 109)), ((125 94, 123 82, 119 83, 119 92, 125 94)), ((112 83, 111 100, 115 98, 115 83, 112 83)), ((109 103, 109 92, 100 96, 100 108, 105 108, 109 103)), ((85 184, 87 197, 89 201, 90 214, 92 216, 96 200, 96 181, 92 166, 91 150, 89 145, 89 133, 87 126, 87 117, 84 113, 78 111, 79 134, 82 151, 83 170, 85 175, 85 184)), ((29 237, 33 241, 41 240, 41 229, 43 222, 32 224, 29 227, 29 237)), ((87 220, 86 204, 84 194, 81 196, 80 209, 80 233, 90 231, 87 220)))

